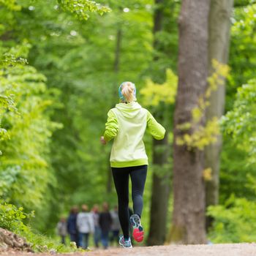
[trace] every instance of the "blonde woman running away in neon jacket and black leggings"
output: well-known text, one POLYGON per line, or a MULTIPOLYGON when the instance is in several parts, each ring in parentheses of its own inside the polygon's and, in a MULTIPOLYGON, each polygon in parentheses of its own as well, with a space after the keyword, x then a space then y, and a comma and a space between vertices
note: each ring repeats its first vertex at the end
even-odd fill
POLYGON ((132 248, 129 237, 129 222, 135 241, 143 241, 143 227, 140 217, 143 209, 143 191, 148 169, 148 157, 143 143, 143 135, 148 128, 151 135, 162 140, 165 128, 157 123, 151 113, 136 102, 135 84, 121 83, 118 94, 120 103, 108 112, 102 144, 114 139, 110 166, 118 197, 118 217, 123 231, 119 244, 132 248), (129 218, 129 176, 132 180, 132 201, 134 214, 129 218))

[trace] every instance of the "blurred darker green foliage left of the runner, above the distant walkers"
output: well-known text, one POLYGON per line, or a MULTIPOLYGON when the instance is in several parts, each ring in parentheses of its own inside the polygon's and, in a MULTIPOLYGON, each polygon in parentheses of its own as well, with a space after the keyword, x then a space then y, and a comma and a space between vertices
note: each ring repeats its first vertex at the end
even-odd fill
MULTIPOLYGON (((118 102, 118 84, 132 80, 138 89, 143 86, 140 74, 151 59, 151 10, 138 1, 127 5, 115 2, 112 6, 113 12, 101 18, 92 16, 84 26, 67 13, 56 13, 53 4, 51 12, 42 1, 34 4, 38 15, 45 17, 47 13, 51 25, 42 29, 46 39, 41 42, 34 34, 28 34, 34 45, 29 63, 47 76, 50 88, 61 90, 59 102, 63 105, 53 114, 53 119, 64 128, 52 138, 50 160, 58 187, 50 205, 54 211, 48 210, 50 227, 55 227, 60 211, 67 212, 72 204, 92 206, 104 200, 112 206, 116 204, 113 184, 107 192, 110 147, 102 148, 99 136, 109 108, 118 102), (121 5, 121 10, 116 5, 121 5), (129 7, 129 12, 124 12, 124 7, 129 7), (56 27, 59 33, 53 36, 52 28, 56 27), (114 59, 119 28, 122 34, 116 73, 114 59), (76 35, 72 36, 70 31, 76 35)), ((41 20, 35 20, 33 15, 27 17, 31 29, 36 22, 40 26, 41 20)), ((49 230, 47 224, 42 230, 46 227, 49 230)))

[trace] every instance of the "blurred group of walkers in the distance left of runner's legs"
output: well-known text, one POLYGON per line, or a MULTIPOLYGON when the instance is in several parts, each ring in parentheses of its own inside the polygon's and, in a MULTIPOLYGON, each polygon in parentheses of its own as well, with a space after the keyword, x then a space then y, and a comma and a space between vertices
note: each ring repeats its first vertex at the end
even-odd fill
POLYGON ((69 217, 62 217, 57 225, 62 244, 66 244, 66 237, 69 234, 70 241, 83 249, 89 247, 90 234, 94 238, 95 247, 98 248, 101 242, 107 249, 110 242, 118 243, 120 229, 118 207, 115 206, 109 211, 108 203, 102 204, 102 211, 99 211, 98 205, 94 205, 91 211, 86 204, 81 206, 81 211, 78 206, 73 206, 69 217))

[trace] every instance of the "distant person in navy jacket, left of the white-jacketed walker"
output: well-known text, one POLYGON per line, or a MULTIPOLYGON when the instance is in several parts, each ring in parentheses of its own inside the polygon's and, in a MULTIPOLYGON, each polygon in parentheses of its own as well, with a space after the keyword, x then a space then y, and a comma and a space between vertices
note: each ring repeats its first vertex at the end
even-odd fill
POLYGON ((70 236, 70 241, 75 242, 79 247, 78 229, 77 229, 78 206, 73 206, 67 218, 67 232, 70 236))

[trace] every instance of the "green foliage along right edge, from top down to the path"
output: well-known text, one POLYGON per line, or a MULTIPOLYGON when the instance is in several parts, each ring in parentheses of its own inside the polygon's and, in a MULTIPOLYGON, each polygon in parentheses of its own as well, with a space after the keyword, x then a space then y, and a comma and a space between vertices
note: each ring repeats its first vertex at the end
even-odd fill
POLYGON ((214 217, 212 241, 255 241, 255 4, 238 1, 233 18, 230 50, 231 77, 227 109, 222 118, 223 151, 220 203, 208 214, 214 217), (243 2, 243 3, 242 3, 243 2), (247 82, 249 81, 249 82, 247 82), (239 85, 244 84, 238 88, 239 85), (238 90, 236 91, 236 89, 238 90), (236 94, 236 97, 235 97, 236 94))

